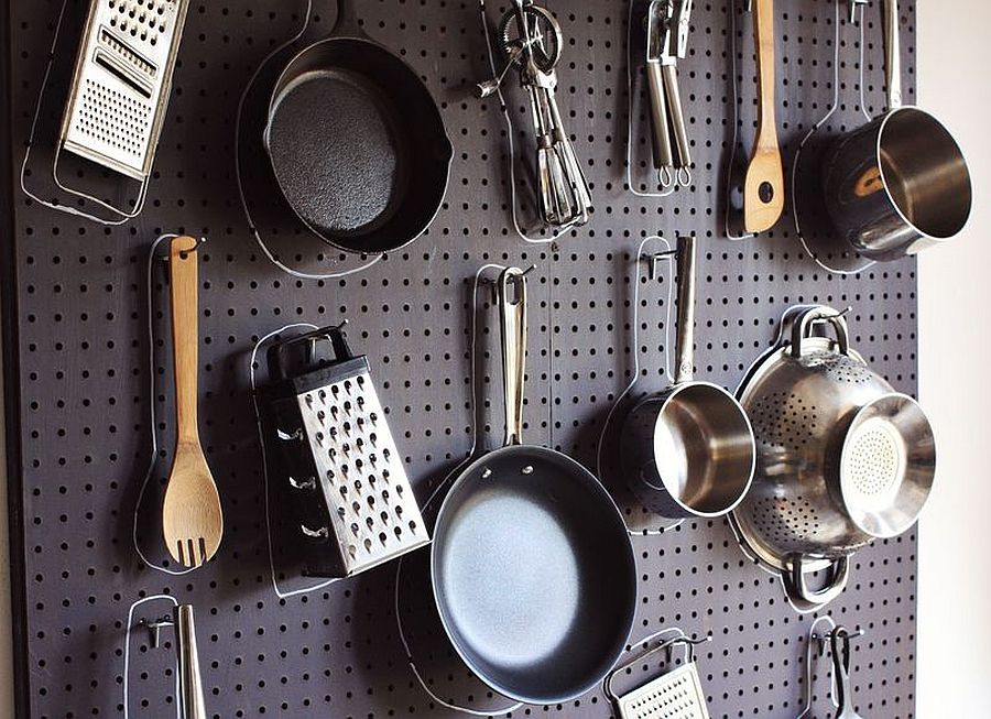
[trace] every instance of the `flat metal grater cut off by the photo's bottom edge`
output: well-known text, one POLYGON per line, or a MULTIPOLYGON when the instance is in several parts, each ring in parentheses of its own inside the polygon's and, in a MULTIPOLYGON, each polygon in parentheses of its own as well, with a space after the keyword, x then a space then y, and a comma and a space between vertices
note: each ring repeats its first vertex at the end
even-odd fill
MULTIPOLYGON (((705 642, 708 639, 700 641, 705 642)), ((685 664, 629 694, 616 695, 612 691, 613 678, 627 667, 620 667, 609 676, 606 690, 616 702, 620 719, 709 719, 706 695, 698 676, 698 665, 695 663, 693 651, 695 643, 698 642, 678 638, 663 642, 641 655, 633 663, 640 663, 661 650, 669 650, 675 644, 685 644, 688 649, 688 660, 685 664)))

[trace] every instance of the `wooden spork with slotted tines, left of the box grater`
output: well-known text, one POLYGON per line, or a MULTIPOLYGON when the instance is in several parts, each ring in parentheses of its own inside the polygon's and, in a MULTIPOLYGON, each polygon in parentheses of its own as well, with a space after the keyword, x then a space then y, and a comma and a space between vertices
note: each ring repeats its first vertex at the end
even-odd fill
POLYGON ((162 530, 168 553, 186 567, 198 567, 209 562, 224 535, 220 495, 199 444, 199 272, 196 248, 196 239, 177 237, 168 252, 176 442, 162 508, 162 530))

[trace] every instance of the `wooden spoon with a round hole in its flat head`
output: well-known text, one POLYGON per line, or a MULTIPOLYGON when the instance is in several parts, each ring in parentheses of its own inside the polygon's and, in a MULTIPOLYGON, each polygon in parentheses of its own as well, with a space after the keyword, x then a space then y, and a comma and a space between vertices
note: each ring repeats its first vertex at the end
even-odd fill
POLYGON ((748 232, 770 230, 784 211, 784 165, 775 112, 774 0, 753 0, 758 56, 758 132, 743 187, 748 232))

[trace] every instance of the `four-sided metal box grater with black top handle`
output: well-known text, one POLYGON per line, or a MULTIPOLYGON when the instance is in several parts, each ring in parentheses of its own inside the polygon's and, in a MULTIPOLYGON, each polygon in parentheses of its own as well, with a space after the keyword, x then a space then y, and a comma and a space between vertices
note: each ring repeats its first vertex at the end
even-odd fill
POLYGON ((306 573, 350 577, 429 543, 368 358, 339 327, 273 345, 260 392, 306 573))

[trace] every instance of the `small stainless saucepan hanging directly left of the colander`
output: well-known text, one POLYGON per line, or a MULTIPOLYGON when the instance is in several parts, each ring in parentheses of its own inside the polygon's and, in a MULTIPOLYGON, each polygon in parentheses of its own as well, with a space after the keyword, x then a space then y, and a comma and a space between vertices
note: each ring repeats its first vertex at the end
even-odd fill
POLYGON ((679 237, 677 372, 623 424, 623 473, 650 511, 668 519, 730 512, 753 479, 755 447, 747 413, 729 392, 693 380, 695 238, 679 237))

